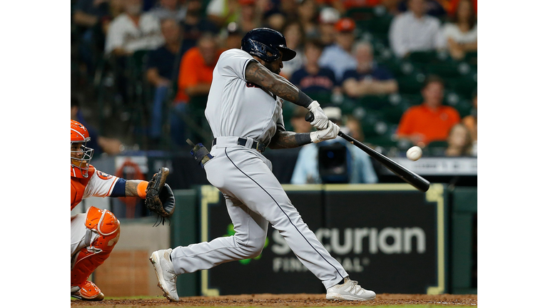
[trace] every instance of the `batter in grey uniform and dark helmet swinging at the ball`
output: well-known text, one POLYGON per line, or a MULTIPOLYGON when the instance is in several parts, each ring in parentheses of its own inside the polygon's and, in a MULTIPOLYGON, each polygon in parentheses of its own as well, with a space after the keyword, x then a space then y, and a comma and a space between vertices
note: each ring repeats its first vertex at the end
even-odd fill
POLYGON ((220 55, 213 71, 205 117, 213 130, 213 158, 204 164, 209 182, 223 193, 235 235, 218 237, 173 250, 158 250, 151 262, 164 296, 178 301, 179 274, 207 270, 224 262, 256 257, 261 253, 270 223, 291 250, 327 289, 326 299, 375 299, 375 292, 360 287, 303 222, 278 179, 270 160, 272 149, 295 148, 333 139, 340 128, 328 120, 320 104, 279 76, 283 61, 295 57, 285 37, 272 29, 253 29, 241 49, 220 55), (285 131, 282 101, 308 108, 317 131, 285 131))

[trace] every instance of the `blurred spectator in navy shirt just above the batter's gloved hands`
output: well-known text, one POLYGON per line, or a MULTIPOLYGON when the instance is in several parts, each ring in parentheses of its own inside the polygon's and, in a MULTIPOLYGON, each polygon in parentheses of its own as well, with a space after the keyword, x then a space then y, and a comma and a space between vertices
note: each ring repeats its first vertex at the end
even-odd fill
POLYGON ((291 83, 315 99, 317 96, 331 96, 333 91, 340 92, 335 73, 328 67, 320 66, 318 59, 322 55, 322 45, 315 41, 305 43, 305 65, 291 76, 291 83))

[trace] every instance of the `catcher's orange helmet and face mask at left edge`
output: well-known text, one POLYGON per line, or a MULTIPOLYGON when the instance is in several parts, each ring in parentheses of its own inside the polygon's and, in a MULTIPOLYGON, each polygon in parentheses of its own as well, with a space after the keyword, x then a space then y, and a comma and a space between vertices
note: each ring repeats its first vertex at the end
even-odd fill
POLYGON ((93 149, 86 147, 91 140, 88 130, 78 121, 71 120, 71 176, 87 178, 93 149), (77 170, 78 169, 78 170, 77 170))

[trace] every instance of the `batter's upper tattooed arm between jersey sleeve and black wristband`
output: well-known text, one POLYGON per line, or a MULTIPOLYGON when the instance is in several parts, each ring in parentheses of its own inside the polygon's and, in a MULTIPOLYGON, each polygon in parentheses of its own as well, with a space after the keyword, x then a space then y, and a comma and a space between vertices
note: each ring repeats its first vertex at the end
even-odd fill
POLYGON ((245 67, 245 79, 250 83, 255 83, 265 90, 272 92, 275 96, 298 103, 299 89, 282 76, 276 75, 265 68, 262 64, 250 61, 245 67))

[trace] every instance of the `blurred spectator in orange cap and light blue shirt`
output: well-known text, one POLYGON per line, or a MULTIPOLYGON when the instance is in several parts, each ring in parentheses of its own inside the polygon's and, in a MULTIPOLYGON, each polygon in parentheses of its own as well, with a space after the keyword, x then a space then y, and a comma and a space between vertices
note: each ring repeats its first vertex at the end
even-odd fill
POLYGON ((335 44, 326 47, 320 57, 320 66, 331 68, 335 72, 337 81, 342 79, 342 74, 347 70, 355 69, 356 59, 352 56, 354 44, 355 22, 347 17, 339 19, 335 24, 337 35, 335 44))

